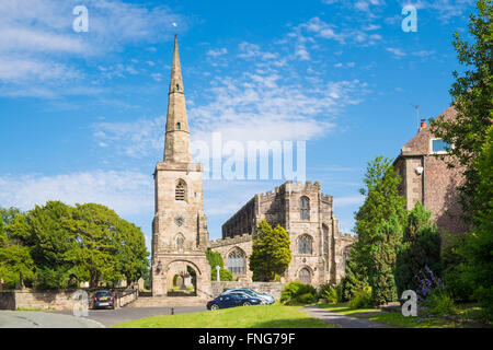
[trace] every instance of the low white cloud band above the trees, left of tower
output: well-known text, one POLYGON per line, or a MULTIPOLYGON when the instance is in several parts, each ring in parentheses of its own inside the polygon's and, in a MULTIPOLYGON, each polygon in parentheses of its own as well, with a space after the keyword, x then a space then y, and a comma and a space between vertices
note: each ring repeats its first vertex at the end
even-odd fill
POLYGON ((152 176, 136 172, 82 172, 73 174, 7 175, 0 177, 2 207, 33 209, 48 200, 68 205, 95 202, 118 214, 147 213, 153 208, 152 176))

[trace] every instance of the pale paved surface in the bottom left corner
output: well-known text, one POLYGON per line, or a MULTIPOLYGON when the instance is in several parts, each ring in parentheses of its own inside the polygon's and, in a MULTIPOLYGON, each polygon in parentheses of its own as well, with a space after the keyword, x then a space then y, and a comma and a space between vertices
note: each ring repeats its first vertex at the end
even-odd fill
POLYGON ((104 328, 96 320, 37 311, 0 311, 0 328, 104 328))

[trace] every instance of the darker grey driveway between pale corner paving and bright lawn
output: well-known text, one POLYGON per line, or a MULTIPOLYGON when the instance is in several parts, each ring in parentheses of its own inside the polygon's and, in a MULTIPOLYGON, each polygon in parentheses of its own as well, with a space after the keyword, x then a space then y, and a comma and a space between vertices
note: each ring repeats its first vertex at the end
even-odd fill
MULTIPOLYGON (((173 307, 174 314, 197 313, 206 311, 205 306, 176 306, 173 307)), ((55 311, 50 314, 71 315, 71 311, 55 311)), ((105 327, 114 326, 127 320, 147 318, 152 316, 171 315, 171 307, 122 307, 116 310, 90 310, 87 318, 95 320, 105 327)), ((72 316, 73 317, 73 316, 72 316)))

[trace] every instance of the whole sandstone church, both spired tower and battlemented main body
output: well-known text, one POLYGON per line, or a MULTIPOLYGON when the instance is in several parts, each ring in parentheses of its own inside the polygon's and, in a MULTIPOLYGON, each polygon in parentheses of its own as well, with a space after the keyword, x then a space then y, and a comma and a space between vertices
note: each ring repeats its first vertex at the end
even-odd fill
POLYGON ((154 171, 151 290, 170 295, 173 280, 191 281, 194 295, 210 295, 210 266, 206 250, 219 252, 225 267, 239 281, 251 280, 249 255, 257 222, 280 224, 291 241, 293 259, 284 281, 311 284, 339 282, 353 243, 342 235, 333 212, 333 198, 320 183, 287 182, 274 192, 255 195, 222 225, 222 238, 208 240, 204 213, 203 165, 192 160, 179 47, 174 38, 163 162, 154 171))

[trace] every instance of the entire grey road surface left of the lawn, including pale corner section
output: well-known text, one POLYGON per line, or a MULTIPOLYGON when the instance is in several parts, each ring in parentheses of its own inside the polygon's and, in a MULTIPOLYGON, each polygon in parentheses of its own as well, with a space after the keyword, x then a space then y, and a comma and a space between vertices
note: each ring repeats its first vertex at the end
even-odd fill
MULTIPOLYGON (((204 306, 173 307, 174 314, 205 310, 204 306)), ((0 311, 0 328, 104 328, 127 320, 170 314, 171 307, 90 310, 88 317, 76 317, 71 311, 0 311)))

